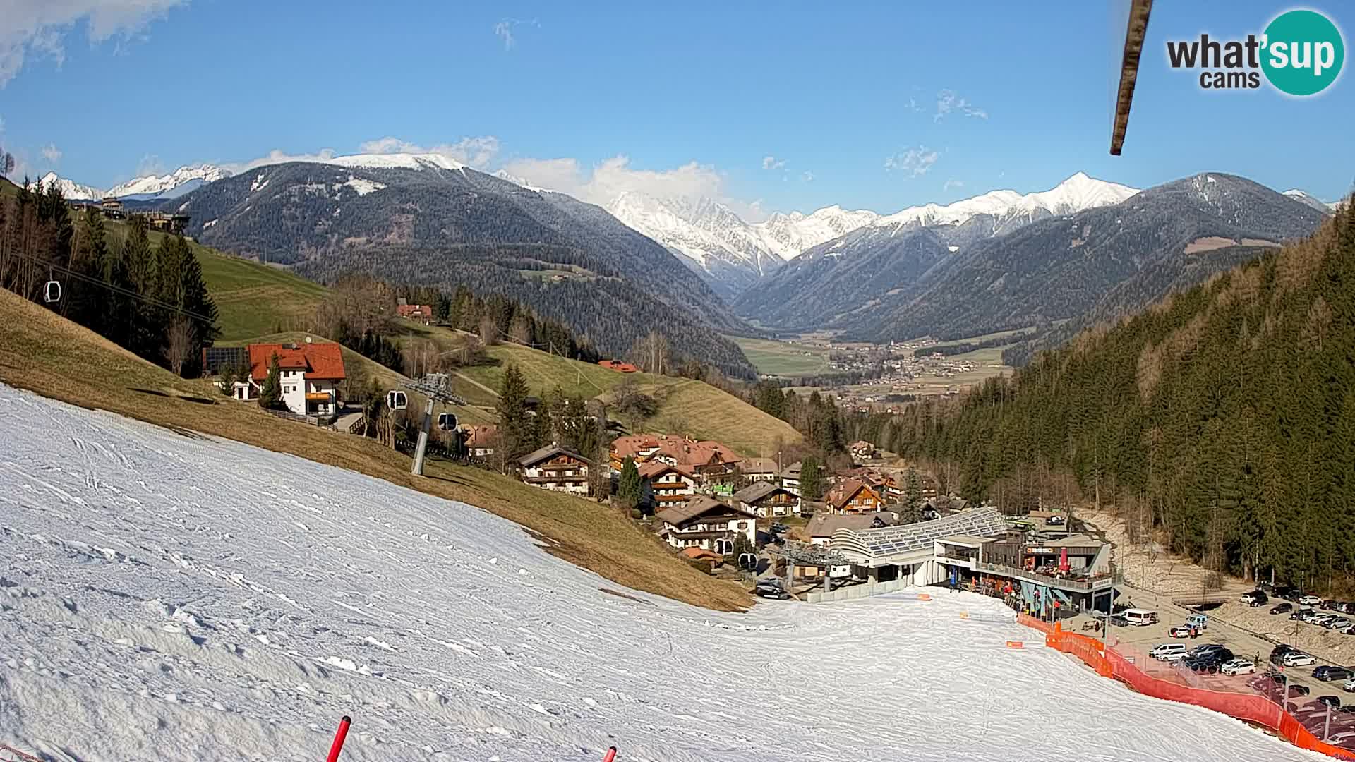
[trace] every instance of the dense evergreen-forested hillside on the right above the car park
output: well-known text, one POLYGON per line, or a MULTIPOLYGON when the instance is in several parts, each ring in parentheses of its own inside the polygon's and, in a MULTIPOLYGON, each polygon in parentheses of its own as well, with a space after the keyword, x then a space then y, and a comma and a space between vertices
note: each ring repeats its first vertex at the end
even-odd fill
POLYGON ((1111 329, 1080 334, 896 445, 969 498, 1034 506, 1076 480, 1218 569, 1355 571, 1355 210, 1111 329))

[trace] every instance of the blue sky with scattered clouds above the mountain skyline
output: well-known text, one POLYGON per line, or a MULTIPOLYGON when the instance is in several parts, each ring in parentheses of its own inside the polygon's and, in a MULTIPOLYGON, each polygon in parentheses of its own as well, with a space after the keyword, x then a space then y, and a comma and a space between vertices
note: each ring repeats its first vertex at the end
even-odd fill
MULTIPOLYGON (((1127 0, 8 1, 0 145, 30 174, 98 187, 374 148, 443 151, 588 201, 701 193, 749 216, 888 213, 1076 171, 1138 187, 1228 171, 1325 199, 1355 180, 1348 75, 1299 100, 1205 92, 1167 65, 1167 39, 1259 33, 1282 3, 1159 3, 1112 157, 1127 0)), ((1355 7, 1310 7, 1350 42, 1355 7)))

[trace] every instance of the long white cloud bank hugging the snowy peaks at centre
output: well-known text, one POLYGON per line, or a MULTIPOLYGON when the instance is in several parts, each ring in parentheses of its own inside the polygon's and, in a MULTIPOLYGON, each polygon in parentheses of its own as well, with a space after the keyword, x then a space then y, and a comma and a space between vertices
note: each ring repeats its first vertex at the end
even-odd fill
POLYGON ((760 202, 730 198, 725 176, 715 167, 696 161, 672 169, 635 169, 626 156, 614 156, 592 168, 577 159, 514 159, 504 163, 500 174, 588 203, 606 205, 622 193, 642 193, 657 198, 715 199, 752 222, 767 217, 760 202))

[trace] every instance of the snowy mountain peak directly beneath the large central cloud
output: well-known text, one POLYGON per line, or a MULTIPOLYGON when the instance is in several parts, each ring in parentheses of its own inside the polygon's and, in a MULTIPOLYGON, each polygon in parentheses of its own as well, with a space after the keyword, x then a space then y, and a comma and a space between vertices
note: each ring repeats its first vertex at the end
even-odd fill
POLYGON ((725 297, 733 297, 782 264, 759 229, 718 201, 626 191, 604 209, 678 255, 725 297))

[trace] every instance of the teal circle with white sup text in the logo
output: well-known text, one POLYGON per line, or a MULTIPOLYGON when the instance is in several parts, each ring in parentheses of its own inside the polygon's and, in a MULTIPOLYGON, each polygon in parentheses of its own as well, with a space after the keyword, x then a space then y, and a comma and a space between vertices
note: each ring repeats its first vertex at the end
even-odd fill
POLYGON ((1262 71, 1280 92, 1316 95, 1341 73, 1341 30, 1317 11, 1286 11, 1266 27, 1262 71))

